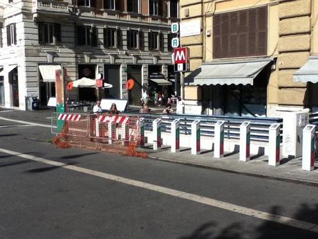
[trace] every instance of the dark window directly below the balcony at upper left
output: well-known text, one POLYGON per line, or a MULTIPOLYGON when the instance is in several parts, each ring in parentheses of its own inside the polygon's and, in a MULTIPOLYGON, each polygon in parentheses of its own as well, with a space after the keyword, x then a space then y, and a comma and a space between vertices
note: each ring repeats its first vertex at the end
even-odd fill
POLYGON ((61 25, 39 23, 39 44, 59 44, 61 42, 61 25))

